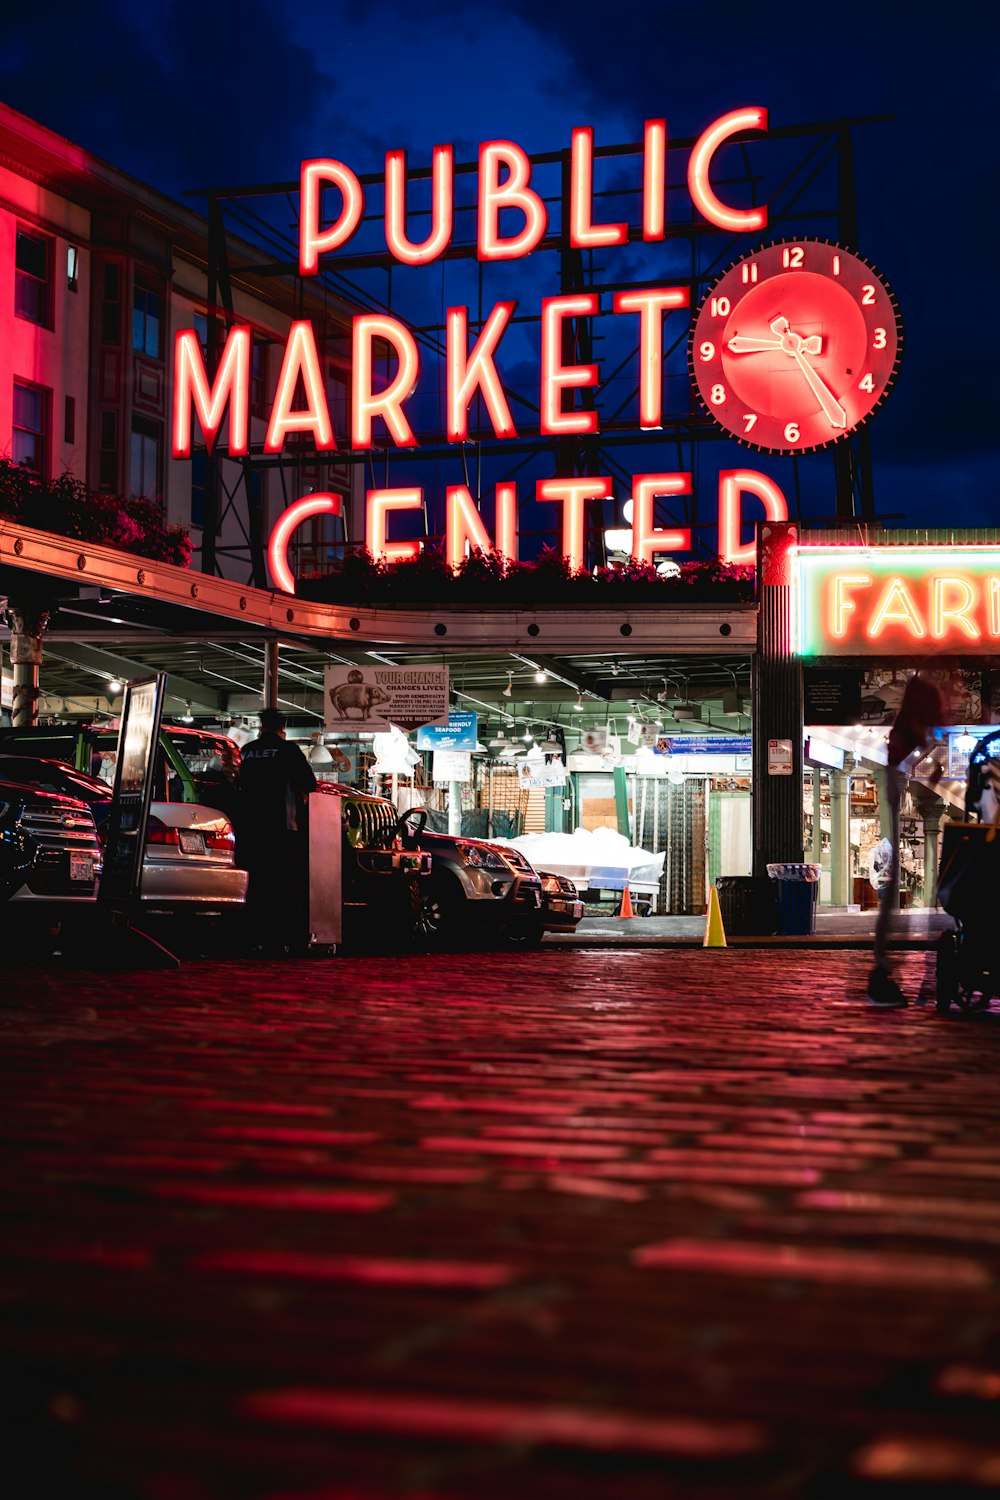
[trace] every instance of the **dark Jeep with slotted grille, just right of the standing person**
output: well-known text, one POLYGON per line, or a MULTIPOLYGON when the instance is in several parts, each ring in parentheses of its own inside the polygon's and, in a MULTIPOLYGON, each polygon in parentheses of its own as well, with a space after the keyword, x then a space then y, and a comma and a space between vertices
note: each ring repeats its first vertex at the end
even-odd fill
POLYGON ((385 934, 408 940, 418 926, 421 888, 430 876, 430 855, 405 849, 396 808, 384 796, 369 796, 336 782, 321 782, 313 796, 340 798, 343 830, 343 928, 346 940, 385 934))

